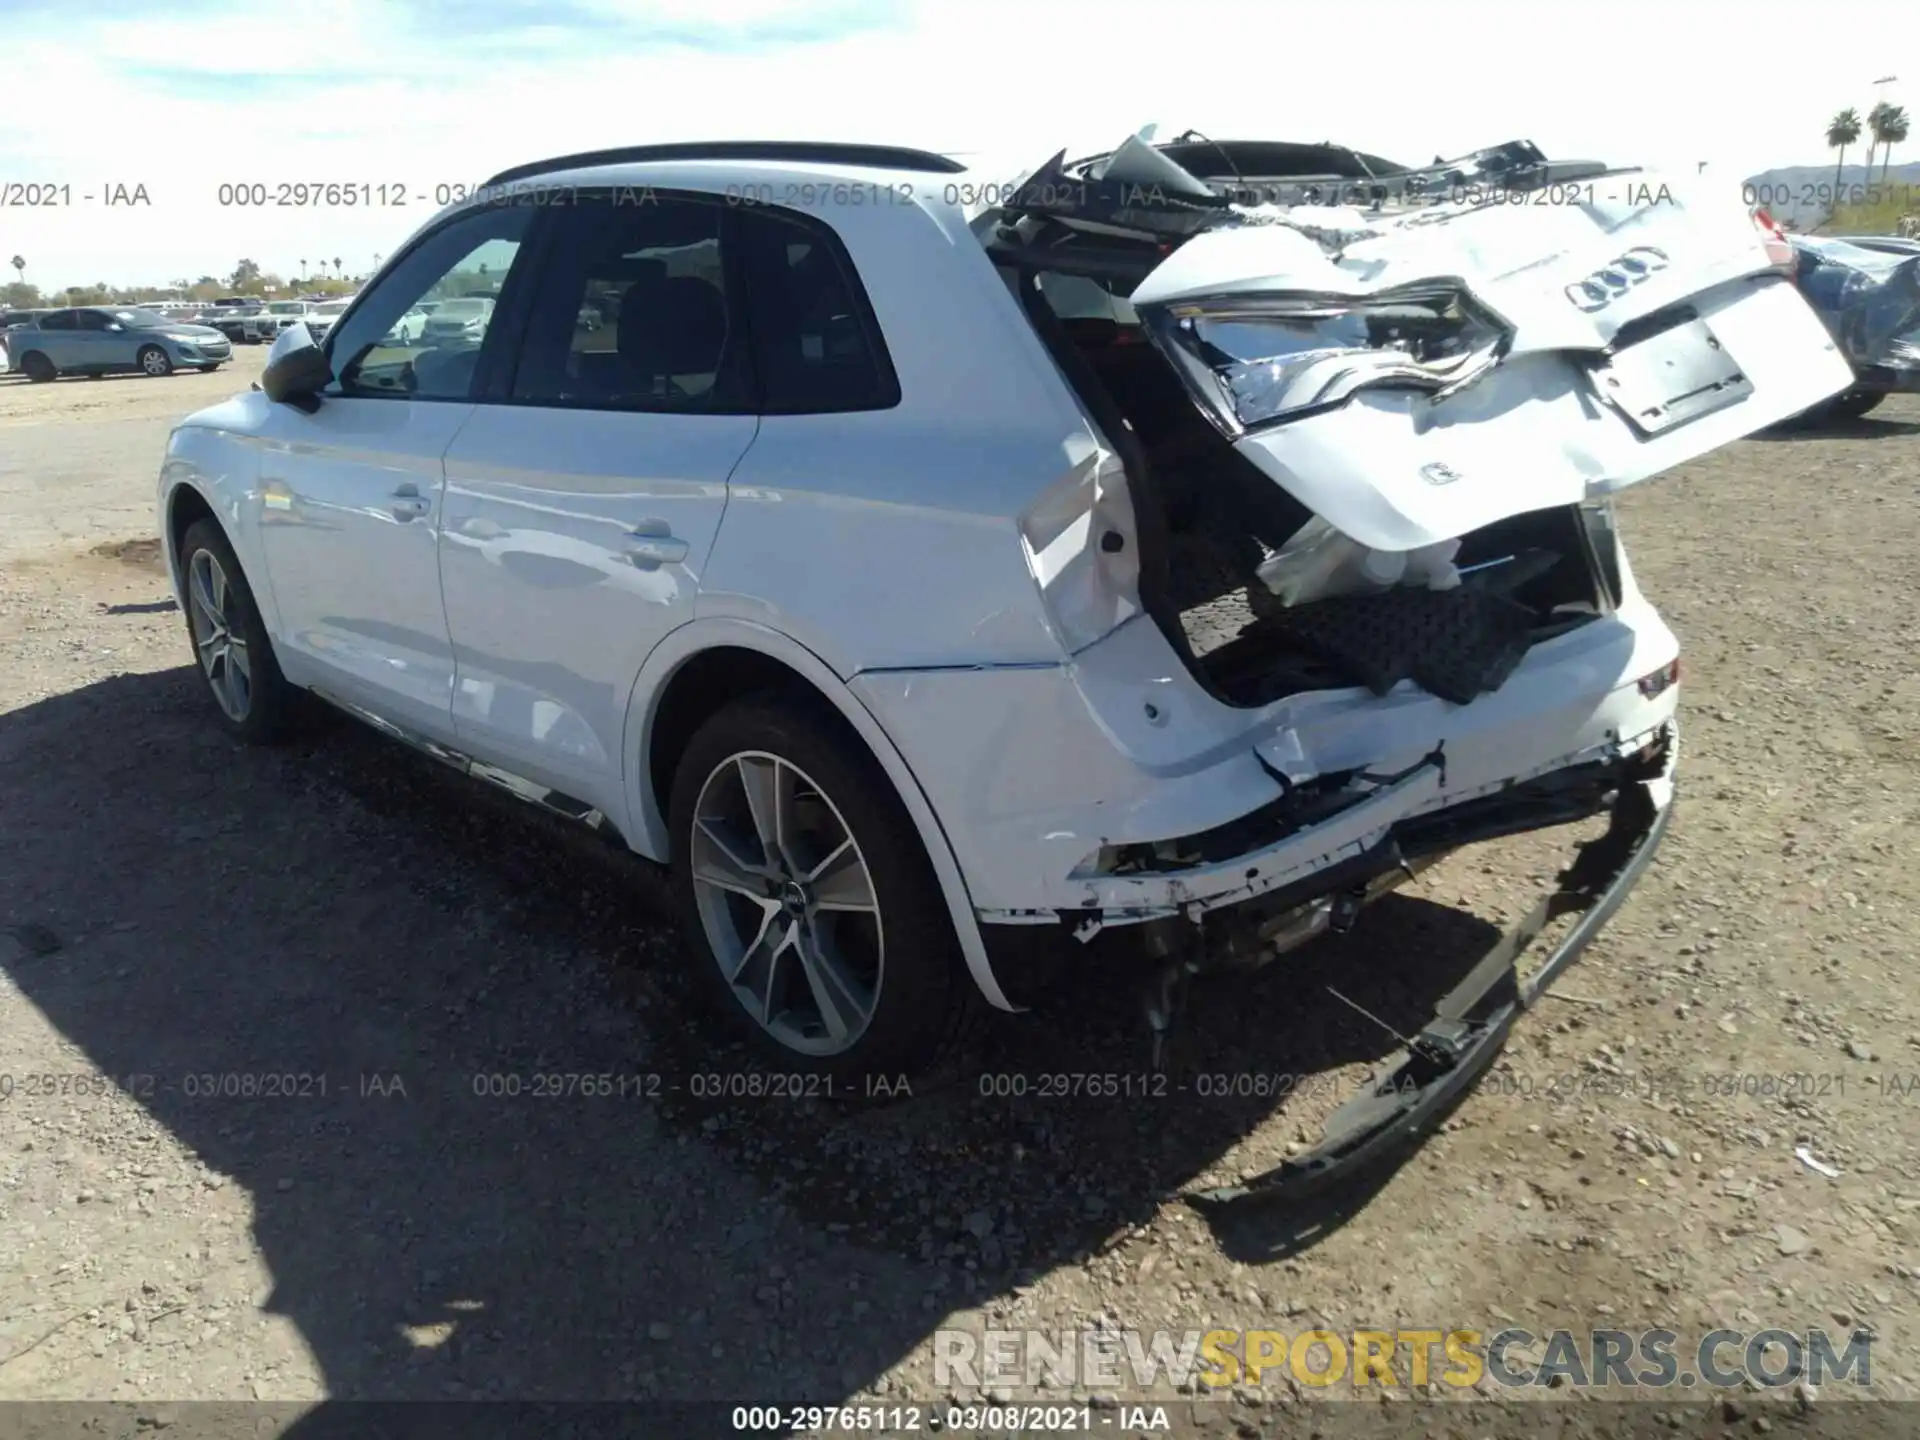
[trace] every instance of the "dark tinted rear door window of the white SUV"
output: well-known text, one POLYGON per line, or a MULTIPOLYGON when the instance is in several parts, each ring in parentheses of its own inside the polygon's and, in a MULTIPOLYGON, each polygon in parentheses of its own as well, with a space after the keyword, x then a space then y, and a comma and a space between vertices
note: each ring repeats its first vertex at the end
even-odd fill
MULTIPOLYGON (((753 411, 747 344, 720 253, 726 211, 580 194, 551 211, 513 399, 618 411, 753 411)), ((428 332, 470 300, 434 309, 428 332)))

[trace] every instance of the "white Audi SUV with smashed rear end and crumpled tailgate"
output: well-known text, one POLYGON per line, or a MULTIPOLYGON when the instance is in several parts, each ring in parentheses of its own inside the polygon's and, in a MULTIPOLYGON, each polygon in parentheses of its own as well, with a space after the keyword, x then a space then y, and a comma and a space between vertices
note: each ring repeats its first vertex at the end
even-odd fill
POLYGON ((438 215, 159 509, 238 733, 313 691, 670 862, 722 1008, 870 1071, 1016 1008, 1000 937, 1135 927, 1173 993, 1611 808, 1571 958, 1676 755, 1607 497, 1847 382, 1738 196, 1524 144, 653 146, 438 215))

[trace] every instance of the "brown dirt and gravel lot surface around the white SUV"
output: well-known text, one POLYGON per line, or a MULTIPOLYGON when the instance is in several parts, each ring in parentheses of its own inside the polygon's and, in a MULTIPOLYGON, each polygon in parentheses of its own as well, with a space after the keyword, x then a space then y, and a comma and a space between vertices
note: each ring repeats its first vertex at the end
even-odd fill
MULTIPOLYGON (((1092 1325, 1868 1327, 1870 1394, 1920 1394, 1920 403, 1626 499, 1686 645, 1657 866, 1396 1173, 1213 1225, 1181 1192, 1298 1144, 1319 1091, 1041 1098, 1142 1069, 1106 977, 891 1106, 697 1098, 743 1062, 703 1048, 641 866, 346 720, 230 745, 150 507, 169 419, 257 365, 0 380, 0 1398, 979 1400, 935 1384, 937 1329, 1092 1325), (664 1085, 486 1092, 541 1073, 664 1085)), ((1415 1027, 1567 839, 1204 987, 1198 1069, 1382 1056, 1321 983, 1415 1027)), ((1653 1413, 1751 1434, 1841 1392, 1653 1413)), ((1354 1394, 1269 1373, 1173 1423, 1354 1394)), ((1605 1409, 1503 1404, 1534 1398, 1605 1409)))

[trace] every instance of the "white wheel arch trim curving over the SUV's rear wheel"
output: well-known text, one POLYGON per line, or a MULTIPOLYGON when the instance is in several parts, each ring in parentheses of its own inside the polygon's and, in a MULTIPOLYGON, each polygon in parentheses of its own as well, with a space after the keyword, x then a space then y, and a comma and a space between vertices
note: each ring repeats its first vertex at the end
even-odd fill
POLYGON ((653 860, 672 860, 662 797, 672 787, 674 764, 708 714, 737 695, 766 687, 793 687, 824 701, 866 745, 920 833, 960 939, 968 973, 989 1004, 998 1010, 1018 1010, 1020 1006, 1006 998, 995 979, 960 862, 912 768, 872 710, 833 668, 778 630, 720 616, 691 620, 666 636, 647 657, 626 720, 632 847, 653 860))

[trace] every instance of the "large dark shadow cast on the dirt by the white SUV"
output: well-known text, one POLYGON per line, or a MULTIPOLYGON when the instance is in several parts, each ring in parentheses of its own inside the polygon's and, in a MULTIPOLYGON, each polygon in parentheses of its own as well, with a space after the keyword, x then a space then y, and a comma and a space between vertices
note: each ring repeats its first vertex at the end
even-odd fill
POLYGON ((246 1188, 267 1309, 338 1398, 691 1400, 726 1375, 843 1400, 950 1311, 1273 1164, 1294 1116, 1263 1125, 1258 1077, 1377 1060, 1492 939, 1388 899, 1202 985, 1162 1096, 1117 964, 993 1018, 912 1098, 714 1096, 768 1079, 707 1046, 655 874, 349 722, 244 749, 196 672, 121 676, 0 716, 0 931, 60 941, 13 947, 12 979, 246 1188), (1233 1154, 1256 1127, 1271 1152, 1233 1154))

